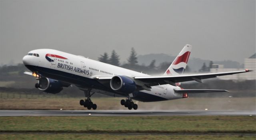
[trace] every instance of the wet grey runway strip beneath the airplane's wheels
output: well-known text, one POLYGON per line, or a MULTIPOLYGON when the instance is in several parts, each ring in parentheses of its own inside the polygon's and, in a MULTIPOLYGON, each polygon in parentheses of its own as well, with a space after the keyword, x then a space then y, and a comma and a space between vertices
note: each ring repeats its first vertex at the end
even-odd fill
POLYGON ((237 110, 0 110, 0 116, 185 116, 243 115, 255 116, 256 111, 237 110))

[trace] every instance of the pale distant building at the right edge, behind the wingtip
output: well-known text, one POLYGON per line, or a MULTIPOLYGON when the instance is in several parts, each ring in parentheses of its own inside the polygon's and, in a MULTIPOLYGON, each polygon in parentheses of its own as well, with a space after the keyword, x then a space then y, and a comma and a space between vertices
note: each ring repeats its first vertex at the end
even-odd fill
POLYGON ((230 72, 246 69, 253 70, 253 72, 220 76, 218 78, 221 80, 256 80, 256 53, 244 59, 244 68, 224 68, 223 65, 213 64, 210 72, 230 72))

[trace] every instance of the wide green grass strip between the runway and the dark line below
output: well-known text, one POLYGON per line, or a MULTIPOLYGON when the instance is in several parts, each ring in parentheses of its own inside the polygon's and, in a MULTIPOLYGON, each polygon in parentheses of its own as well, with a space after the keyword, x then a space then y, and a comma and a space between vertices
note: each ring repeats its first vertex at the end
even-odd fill
POLYGON ((5 116, 0 132, 256 133, 255 116, 5 116))

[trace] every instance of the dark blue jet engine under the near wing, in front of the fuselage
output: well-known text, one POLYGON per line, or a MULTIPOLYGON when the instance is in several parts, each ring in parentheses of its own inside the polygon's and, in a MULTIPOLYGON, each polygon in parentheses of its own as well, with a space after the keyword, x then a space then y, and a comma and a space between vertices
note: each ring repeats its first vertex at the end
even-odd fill
POLYGON ((130 94, 136 90, 136 83, 126 76, 114 76, 110 80, 110 87, 117 92, 130 94))

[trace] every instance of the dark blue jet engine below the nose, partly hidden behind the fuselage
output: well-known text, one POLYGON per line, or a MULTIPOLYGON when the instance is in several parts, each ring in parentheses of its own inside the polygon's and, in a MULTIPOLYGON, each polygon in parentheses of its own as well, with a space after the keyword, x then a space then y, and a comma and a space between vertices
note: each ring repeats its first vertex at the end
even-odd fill
POLYGON ((38 81, 38 84, 40 85, 38 89, 47 93, 56 94, 56 93, 59 93, 61 90, 63 90, 63 86, 60 83, 60 81, 45 78, 45 77, 41 77, 40 80, 38 81))

